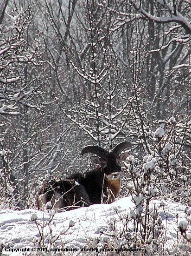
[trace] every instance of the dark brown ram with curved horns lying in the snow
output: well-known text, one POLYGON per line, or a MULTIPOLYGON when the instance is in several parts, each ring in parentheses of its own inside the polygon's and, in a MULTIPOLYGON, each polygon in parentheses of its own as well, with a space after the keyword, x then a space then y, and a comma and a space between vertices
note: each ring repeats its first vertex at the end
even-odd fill
POLYGON ((93 153, 91 161, 99 165, 86 175, 76 173, 67 180, 52 180, 44 184, 38 191, 38 209, 51 202, 54 209, 75 209, 96 203, 111 203, 118 196, 121 186, 121 165, 127 153, 121 154, 131 143, 124 141, 108 152, 98 146, 87 146, 82 156, 93 153), (121 155, 120 155, 121 154, 121 155))

